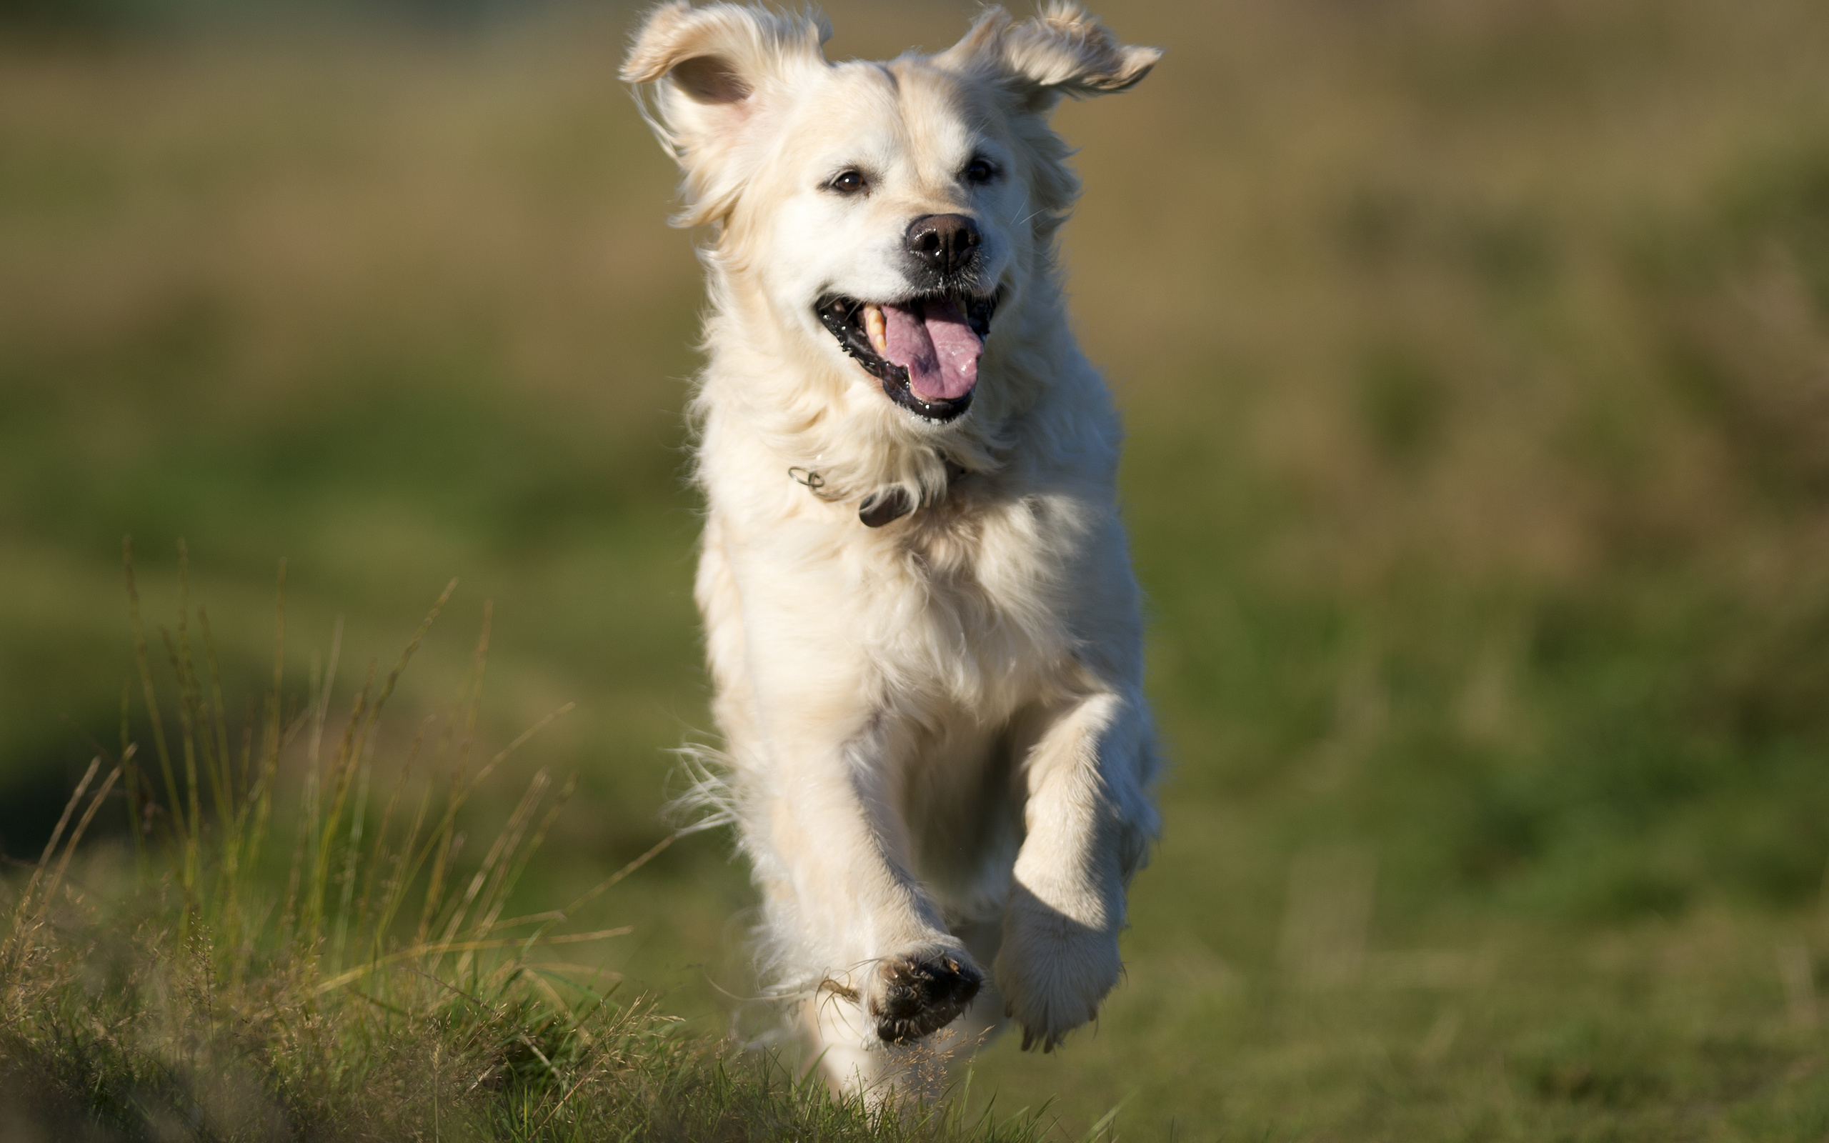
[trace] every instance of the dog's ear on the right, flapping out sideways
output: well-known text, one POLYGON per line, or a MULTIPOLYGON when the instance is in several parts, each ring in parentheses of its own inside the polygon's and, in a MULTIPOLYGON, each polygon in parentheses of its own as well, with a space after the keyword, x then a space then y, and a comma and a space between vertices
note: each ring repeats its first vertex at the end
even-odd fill
POLYGON ((991 7, 964 40, 935 57, 942 66, 989 71, 1035 115, 1052 112, 1063 95, 1128 91, 1160 59, 1160 48, 1119 44, 1086 9, 1064 0, 1021 24, 991 7))

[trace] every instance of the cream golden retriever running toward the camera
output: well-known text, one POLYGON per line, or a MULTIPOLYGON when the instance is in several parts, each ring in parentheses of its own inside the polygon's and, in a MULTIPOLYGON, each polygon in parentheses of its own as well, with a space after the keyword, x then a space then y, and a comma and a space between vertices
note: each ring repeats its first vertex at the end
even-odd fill
POLYGON ((710 234, 695 596, 766 971, 869 1090, 942 1030, 1054 1050, 1123 973, 1158 761, 1048 117, 1161 53, 1068 4, 887 62, 829 37, 680 0, 622 77, 710 234))

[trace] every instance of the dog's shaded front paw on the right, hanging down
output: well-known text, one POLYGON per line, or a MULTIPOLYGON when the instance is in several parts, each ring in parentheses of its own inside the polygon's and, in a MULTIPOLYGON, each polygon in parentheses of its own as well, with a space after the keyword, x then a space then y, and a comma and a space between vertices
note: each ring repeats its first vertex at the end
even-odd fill
POLYGON ((1026 892, 1004 916, 997 989, 1004 1015, 1022 1024, 1022 1050, 1054 1046, 1094 1020, 1123 975, 1118 935, 1081 925, 1026 892))

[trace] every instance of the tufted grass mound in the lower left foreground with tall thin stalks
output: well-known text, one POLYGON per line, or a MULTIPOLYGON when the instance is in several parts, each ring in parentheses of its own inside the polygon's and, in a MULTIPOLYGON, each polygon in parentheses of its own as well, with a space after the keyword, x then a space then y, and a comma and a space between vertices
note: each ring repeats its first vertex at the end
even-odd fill
MULTIPOLYGON (((271 689, 245 722, 225 708, 203 607, 161 629, 168 702, 137 638, 141 717, 123 704, 123 750, 90 763, 0 929, 7 1138, 1017 1143, 1044 1130, 995 1099, 975 1117, 969 1099, 838 1099, 772 1053, 732 1055, 651 997, 620 995, 594 949, 629 927, 578 920, 671 836, 563 909, 503 916, 576 779, 554 792, 536 772, 470 856, 465 803, 543 730, 472 757, 487 618, 468 693, 401 755, 382 744, 382 710, 450 589, 338 724, 335 649, 305 693, 287 688, 283 587, 282 565, 271 689), (130 739, 139 722, 155 766, 130 739), (285 779, 302 788, 276 797, 285 779), (132 843, 79 849, 117 792, 132 843)), ((132 563, 128 594, 139 636, 132 563)))

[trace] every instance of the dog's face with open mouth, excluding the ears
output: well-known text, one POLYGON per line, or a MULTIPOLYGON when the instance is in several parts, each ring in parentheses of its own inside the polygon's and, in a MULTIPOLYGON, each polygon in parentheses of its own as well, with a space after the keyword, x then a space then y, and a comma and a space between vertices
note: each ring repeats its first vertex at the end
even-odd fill
POLYGON ((914 60, 843 64, 803 91, 774 155, 733 229, 781 316, 814 318, 909 411, 964 413, 997 304, 1033 263, 999 101, 914 60))

